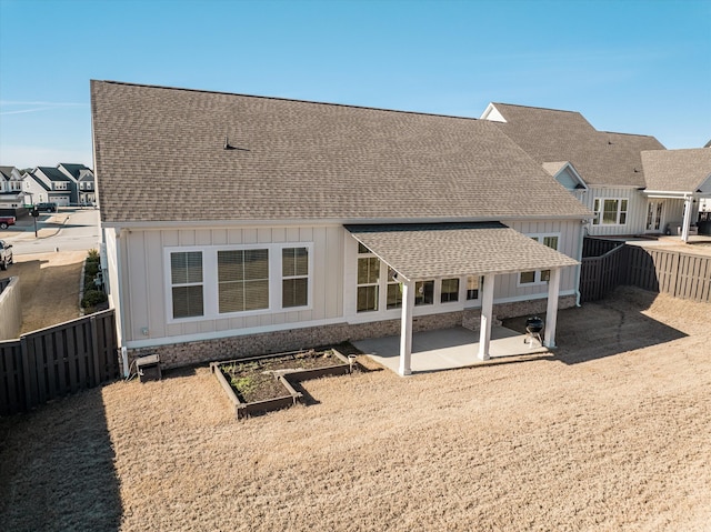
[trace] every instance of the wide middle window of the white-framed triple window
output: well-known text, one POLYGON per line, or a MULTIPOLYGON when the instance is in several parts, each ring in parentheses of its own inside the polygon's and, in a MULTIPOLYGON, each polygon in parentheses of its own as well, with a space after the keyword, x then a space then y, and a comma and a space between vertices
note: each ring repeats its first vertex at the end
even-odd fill
POLYGON ((269 308, 269 250, 218 251, 218 311, 269 308))

